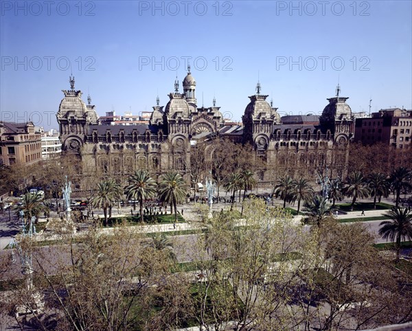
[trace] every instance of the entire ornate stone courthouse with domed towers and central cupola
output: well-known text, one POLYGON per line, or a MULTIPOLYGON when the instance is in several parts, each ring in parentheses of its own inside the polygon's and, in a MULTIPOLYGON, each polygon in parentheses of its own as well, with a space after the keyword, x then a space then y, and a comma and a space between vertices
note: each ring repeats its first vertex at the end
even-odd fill
MULTIPOLYGON (((153 107, 149 124, 101 125, 95 106, 82 101, 82 92, 69 90, 57 113, 60 125, 62 153, 78 159, 83 170, 95 169, 113 174, 129 174, 144 167, 158 174, 169 169, 187 174, 193 141, 208 137, 227 137, 251 144, 251 157, 261 157, 266 168, 314 169, 328 166, 332 176, 341 176, 347 164, 347 146, 353 135, 354 123, 347 98, 328 99, 321 117, 289 116, 282 120, 277 109, 266 101, 268 95, 251 95, 242 117, 242 126, 225 126, 220 107, 198 107, 196 81, 190 67, 179 93, 176 78, 174 92, 166 106, 153 107)), ((213 144, 211 144, 213 148, 213 144)), ((269 172, 260 180, 270 180, 269 172)))

